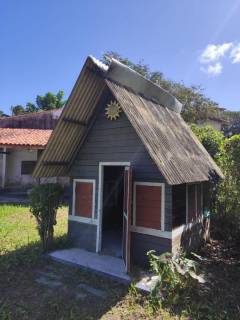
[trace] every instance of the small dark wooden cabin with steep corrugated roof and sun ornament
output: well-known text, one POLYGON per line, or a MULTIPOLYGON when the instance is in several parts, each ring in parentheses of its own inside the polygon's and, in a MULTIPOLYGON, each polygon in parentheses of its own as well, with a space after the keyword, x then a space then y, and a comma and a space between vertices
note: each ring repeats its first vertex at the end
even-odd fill
POLYGON ((116 60, 88 57, 34 170, 66 175, 73 245, 117 256, 196 247, 206 190, 220 169, 180 115, 181 103, 116 60))

